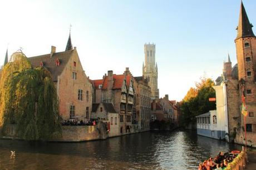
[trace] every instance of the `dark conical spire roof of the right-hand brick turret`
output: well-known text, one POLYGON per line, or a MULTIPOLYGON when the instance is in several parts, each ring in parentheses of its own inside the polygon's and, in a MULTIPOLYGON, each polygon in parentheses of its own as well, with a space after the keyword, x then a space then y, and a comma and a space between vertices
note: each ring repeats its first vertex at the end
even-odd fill
POLYGON ((253 27, 253 25, 249 22, 247 13, 244 9, 244 4, 241 1, 239 23, 238 23, 238 27, 237 27, 237 38, 236 39, 244 38, 244 37, 255 37, 252 27, 253 27))

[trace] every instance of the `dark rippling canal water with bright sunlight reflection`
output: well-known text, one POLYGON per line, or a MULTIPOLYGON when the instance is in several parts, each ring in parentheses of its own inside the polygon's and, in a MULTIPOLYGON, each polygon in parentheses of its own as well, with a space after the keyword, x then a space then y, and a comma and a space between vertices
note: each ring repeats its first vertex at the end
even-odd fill
POLYGON ((144 132, 80 143, 0 139, 0 169, 197 169, 219 151, 241 149, 195 131, 144 132), (15 151, 16 156, 11 157, 15 151))

